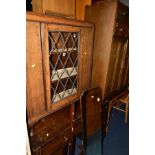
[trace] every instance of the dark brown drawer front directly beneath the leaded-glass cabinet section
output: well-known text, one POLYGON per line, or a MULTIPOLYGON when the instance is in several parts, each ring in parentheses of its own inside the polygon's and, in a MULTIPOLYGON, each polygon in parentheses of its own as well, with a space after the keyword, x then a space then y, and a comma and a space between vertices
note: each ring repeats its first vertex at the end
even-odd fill
POLYGON ((70 128, 70 106, 41 119, 30 129, 30 143, 37 148, 47 143, 60 132, 70 128))

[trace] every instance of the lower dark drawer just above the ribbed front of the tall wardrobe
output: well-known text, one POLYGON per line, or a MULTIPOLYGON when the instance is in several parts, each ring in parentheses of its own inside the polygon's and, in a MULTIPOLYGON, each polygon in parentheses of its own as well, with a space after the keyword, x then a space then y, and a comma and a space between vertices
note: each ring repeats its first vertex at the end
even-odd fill
POLYGON ((116 21, 114 35, 120 37, 129 37, 128 23, 116 21))

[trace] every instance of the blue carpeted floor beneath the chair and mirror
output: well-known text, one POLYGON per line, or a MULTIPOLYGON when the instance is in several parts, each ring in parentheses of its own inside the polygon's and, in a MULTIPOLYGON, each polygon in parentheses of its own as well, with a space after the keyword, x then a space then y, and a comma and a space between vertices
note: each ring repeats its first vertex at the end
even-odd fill
MULTIPOLYGON (((81 142, 77 139, 76 143, 79 144, 81 142)), ((94 141, 91 141, 91 143, 94 143, 94 141)), ((112 110, 103 150, 104 155, 129 155, 129 123, 125 123, 123 112, 112 110)), ((75 155, 77 154, 76 147, 75 155)), ((95 150, 90 151, 88 155, 100 155, 100 148, 95 147, 95 150)))

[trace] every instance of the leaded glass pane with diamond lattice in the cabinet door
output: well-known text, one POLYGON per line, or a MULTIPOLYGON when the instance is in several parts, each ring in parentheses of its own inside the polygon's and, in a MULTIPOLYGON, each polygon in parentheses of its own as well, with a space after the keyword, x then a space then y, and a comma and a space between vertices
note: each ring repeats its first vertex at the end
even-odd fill
POLYGON ((77 92, 78 32, 49 31, 51 102, 77 92))

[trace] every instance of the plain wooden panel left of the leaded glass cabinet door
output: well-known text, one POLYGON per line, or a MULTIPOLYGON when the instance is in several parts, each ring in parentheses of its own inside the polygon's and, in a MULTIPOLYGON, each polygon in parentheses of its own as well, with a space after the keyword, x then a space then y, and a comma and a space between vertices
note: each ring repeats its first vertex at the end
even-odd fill
POLYGON ((26 92, 28 118, 45 113, 40 24, 26 23, 26 92))

